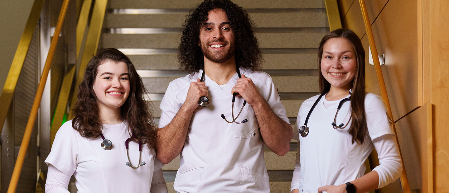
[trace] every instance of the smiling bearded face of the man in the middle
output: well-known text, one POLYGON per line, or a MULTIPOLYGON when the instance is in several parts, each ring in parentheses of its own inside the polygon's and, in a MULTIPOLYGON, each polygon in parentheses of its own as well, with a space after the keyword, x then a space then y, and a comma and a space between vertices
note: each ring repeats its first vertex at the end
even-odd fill
POLYGON ((200 28, 198 46, 201 46, 205 61, 223 63, 234 57, 234 32, 223 9, 213 9, 208 14, 200 28))

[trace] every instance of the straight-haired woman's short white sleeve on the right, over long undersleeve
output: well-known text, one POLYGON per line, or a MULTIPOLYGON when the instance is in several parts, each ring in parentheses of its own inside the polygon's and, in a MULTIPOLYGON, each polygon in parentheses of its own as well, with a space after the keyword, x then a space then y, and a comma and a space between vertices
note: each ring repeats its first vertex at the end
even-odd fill
POLYGON ((392 134, 392 120, 388 116, 385 103, 375 94, 368 93, 365 97, 365 115, 368 133, 371 140, 386 134, 392 134))

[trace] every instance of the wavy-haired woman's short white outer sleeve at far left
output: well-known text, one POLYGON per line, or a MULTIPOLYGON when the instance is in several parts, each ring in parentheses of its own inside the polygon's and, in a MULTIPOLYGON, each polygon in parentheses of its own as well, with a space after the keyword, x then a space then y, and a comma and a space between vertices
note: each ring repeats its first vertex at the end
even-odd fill
POLYGON ((71 123, 72 121, 67 121, 59 128, 50 154, 45 159, 47 165, 53 165, 67 176, 72 176, 75 172, 79 156, 78 140, 71 123))

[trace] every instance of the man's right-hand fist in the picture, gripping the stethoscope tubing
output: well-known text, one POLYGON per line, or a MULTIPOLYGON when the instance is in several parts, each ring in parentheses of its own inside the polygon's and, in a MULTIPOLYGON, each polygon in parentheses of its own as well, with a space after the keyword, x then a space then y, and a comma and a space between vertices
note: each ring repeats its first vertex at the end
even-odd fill
POLYGON ((231 90, 231 94, 234 93, 241 95, 250 105, 265 101, 255 87, 251 78, 247 78, 245 75, 242 75, 242 78, 237 79, 237 84, 235 84, 231 90))

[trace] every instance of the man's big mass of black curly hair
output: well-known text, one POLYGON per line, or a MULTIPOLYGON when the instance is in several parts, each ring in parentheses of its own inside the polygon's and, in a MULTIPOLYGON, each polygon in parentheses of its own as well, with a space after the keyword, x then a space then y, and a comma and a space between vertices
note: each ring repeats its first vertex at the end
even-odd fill
POLYGON ((257 70, 260 68, 262 54, 259 43, 254 35, 254 22, 248 13, 230 0, 205 0, 196 9, 190 11, 183 25, 178 61, 180 69, 195 73, 204 69, 204 57, 199 34, 200 27, 207 21, 208 12, 213 9, 223 9, 228 16, 230 27, 235 34, 235 61, 237 67, 257 70))

